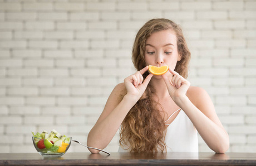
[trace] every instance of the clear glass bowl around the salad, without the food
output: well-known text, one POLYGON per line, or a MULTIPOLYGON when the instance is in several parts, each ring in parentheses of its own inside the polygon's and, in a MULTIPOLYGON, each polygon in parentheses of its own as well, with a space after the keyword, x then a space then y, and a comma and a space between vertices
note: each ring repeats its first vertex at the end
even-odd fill
POLYGON ((40 149, 37 147, 37 142, 39 141, 38 138, 36 137, 32 137, 32 142, 37 150, 37 152, 39 154, 41 154, 43 157, 61 157, 63 154, 65 154, 68 150, 68 148, 70 148, 71 146, 71 142, 72 142, 72 137, 69 137, 70 138, 70 143, 68 144, 68 146, 66 147, 66 150, 64 152, 52 152, 52 151, 49 151, 51 149, 47 149, 47 148, 43 148, 43 149, 40 149))

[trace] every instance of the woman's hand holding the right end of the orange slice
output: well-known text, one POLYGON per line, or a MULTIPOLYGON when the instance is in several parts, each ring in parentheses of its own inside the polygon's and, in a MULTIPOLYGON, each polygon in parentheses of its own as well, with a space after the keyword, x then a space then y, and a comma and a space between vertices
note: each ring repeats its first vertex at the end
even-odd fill
POLYGON ((180 97, 186 96, 186 91, 188 91, 190 82, 184 79, 183 76, 179 75, 178 72, 168 69, 171 74, 173 74, 173 78, 170 80, 168 74, 163 74, 163 79, 168 88, 169 94, 173 100, 177 100, 180 97))

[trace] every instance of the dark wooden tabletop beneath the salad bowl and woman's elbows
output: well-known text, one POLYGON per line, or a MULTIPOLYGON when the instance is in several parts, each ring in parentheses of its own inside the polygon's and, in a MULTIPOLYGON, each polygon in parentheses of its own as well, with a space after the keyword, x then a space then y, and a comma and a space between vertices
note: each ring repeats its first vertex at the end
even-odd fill
POLYGON ((256 165, 256 153, 0 153, 0 165, 256 165))

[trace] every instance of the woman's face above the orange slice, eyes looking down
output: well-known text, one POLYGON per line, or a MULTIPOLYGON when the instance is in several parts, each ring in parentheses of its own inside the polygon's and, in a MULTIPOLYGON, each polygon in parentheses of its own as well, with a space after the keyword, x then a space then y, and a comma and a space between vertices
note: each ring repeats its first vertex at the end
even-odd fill
POLYGON ((168 29, 155 32, 146 40, 146 65, 168 65, 169 68, 174 70, 177 61, 180 59, 177 39, 173 30, 168 29))

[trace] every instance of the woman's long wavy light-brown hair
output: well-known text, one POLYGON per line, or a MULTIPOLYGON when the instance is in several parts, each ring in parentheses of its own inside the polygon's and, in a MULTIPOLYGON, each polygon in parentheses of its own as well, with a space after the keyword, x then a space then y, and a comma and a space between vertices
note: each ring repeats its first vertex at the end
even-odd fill
MULTIPOLYGON (((171 29, 177 38, 178 53, 181 60, 177 62, 175 71, 186 78, 188 76, 188 64, 190 51, 186 44, 180 26, 169 19, 151 19, 139 30, 132 48, 132 62, 137 71, 145 68, 146 40, 152 33, 171 29)), ((143 77, 149 75, 145 72, 143 77)), ((160 111, 164 111, 153 96, 155 89, 149 82, 140 100, 127 113, 121 124, 120 145, 127 147, 130 152, 164 152, 165 146, 165 123, 160 111), (159 110, 159 107, 161 110, 159 110)))

